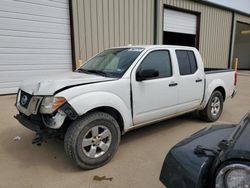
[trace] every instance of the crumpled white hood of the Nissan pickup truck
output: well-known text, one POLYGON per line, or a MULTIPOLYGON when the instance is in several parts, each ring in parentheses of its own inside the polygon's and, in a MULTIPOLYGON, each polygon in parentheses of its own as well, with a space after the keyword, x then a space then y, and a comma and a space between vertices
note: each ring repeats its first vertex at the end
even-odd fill
POLYGON ((49 75, 25 81, 20 89, 31 95, 54 95, 74 86, 116 80, 117 78, 103 77, 95 74, 66 72, 60 75, 49 75))

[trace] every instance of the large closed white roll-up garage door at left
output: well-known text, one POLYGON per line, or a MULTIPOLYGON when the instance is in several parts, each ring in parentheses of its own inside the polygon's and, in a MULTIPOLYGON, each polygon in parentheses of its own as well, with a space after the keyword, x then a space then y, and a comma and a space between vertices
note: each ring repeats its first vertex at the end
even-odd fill
POLYGON ((0 94, 23 80, 72 70, 67 0, 0 1, 0 94))

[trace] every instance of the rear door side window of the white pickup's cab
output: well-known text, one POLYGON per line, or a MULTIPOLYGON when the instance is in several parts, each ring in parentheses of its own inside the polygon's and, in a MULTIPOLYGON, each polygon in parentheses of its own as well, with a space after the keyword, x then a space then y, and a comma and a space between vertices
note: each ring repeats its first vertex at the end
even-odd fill
POLYGON ((176 50, 175 52, 180 75, 194 74, 198 69, 194 52, 191 50, 176 50))

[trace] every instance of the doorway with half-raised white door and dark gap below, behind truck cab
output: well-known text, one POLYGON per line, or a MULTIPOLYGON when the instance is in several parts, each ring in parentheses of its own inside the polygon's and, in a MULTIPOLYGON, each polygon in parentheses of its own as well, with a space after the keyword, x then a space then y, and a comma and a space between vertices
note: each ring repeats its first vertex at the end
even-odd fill
POLYGON ((164 9, 163 44, 198 48, 198 32, 195 14, 164 9))

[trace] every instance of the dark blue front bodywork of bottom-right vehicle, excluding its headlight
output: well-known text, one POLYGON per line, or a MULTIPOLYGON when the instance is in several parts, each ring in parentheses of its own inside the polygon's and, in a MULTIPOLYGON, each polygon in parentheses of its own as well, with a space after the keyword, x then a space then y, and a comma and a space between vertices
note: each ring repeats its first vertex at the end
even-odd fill
POLYGON ((237 125, 215 125, 203 129, 170 150, 163 163, 160 180, 171 188, 207 188, 209 173, 221 163, 250 160, 250 145, 246 144, 249 141, 250 113, 237 125), (217 154, 208 150, 197 154, 197 146, 205 148, 204 151, 217 151, 217 154))

